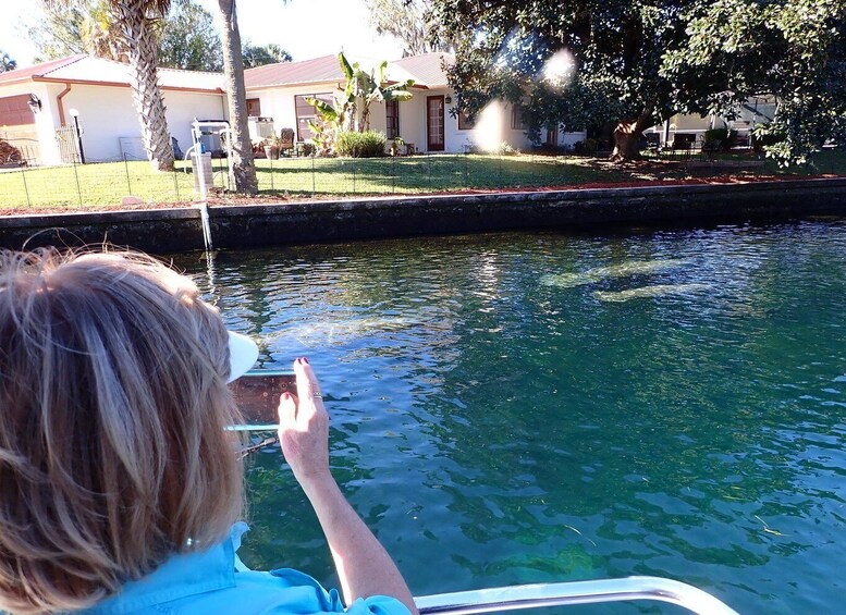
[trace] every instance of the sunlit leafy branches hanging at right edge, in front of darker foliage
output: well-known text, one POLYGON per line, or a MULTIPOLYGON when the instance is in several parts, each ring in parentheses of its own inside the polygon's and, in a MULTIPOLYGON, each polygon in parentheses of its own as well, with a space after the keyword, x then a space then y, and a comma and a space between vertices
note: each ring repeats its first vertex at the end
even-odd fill
POLYGON ((824 143, 846 139, 845 4, 721 0, 691 10, 687 33, 663 67, 682 108, 731 115, 750 95, 774 95, 775 118, 757 136, 783 163, 807 162, 824 143), (708 90, 690 87, 703 74, 708 90))

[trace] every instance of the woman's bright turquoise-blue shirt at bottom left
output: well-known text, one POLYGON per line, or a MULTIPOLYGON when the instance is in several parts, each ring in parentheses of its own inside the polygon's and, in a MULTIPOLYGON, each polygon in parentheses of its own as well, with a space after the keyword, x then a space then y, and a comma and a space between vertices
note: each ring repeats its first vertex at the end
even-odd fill
MULTIPOLYGON (((235 524, 229 538, 220 544, 208 551, 174 555, 150 575, 127 582, 115 595, 75 613, 305 615, 344 612, 338 590, 324 590, 308 575, 290 568, 260 573, 244 566, 235 552, 245 531, 246 524, 235 524)), ((409 615, 402 602, 384 595, 359 598, 346 613, 409 615)))

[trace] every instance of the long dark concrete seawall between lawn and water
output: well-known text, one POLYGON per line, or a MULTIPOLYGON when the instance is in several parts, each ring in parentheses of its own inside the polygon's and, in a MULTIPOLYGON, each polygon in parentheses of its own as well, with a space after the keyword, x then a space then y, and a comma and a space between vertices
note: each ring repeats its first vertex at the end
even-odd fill
MULTIPOLYGON (((216 248, 520 229, 601 230, 846 216, 846 179, 478 195, 312 200, 213 207, 216 248)), ((0 246, 127 245, 203 249, 197 209, 0 218, 0 246)))

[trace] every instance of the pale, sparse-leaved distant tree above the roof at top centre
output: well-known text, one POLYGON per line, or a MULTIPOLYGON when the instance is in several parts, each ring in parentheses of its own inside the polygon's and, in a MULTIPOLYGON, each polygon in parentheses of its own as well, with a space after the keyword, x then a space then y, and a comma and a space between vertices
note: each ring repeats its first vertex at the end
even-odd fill
POLYGON ((403 41, 403 56, 446 51, 452 45, 440 38, 437 22, 422 0, 367 0, 370 24, 378 34, 403 41))

